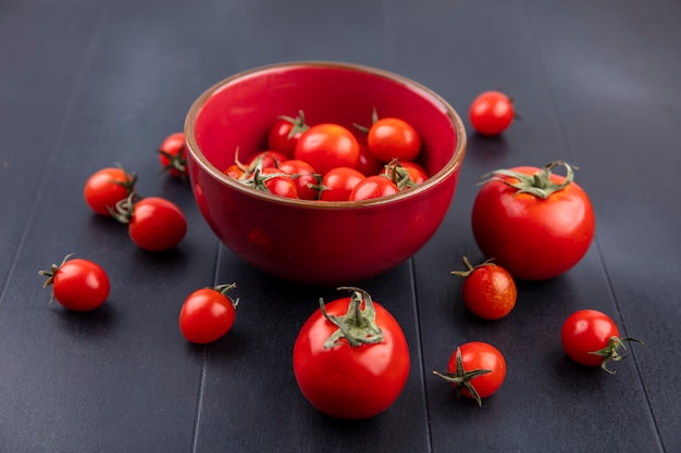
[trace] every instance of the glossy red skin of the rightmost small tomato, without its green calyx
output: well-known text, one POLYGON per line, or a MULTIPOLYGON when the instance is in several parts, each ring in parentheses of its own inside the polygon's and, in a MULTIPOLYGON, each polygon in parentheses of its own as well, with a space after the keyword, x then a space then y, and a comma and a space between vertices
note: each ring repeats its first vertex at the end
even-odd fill
POLYGON ((612 318, 596 310, 580 310, 565 320, 560 330, 562 348, 570 358, 586 366, 600 366, 602 355, 591 354, 608 345, 619 329, 612 318))

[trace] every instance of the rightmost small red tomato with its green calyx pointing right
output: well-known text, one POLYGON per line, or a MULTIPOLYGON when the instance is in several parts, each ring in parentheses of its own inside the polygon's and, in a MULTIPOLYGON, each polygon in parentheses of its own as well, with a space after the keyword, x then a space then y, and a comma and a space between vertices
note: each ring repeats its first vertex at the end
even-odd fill
POLYGON ((586 366, 600 366, 608 369, 609 361, 621 361, 619 348, 627 349, 624 341, 636 341, 634 338, 620 338, 619 329, 612 318, 596 310, 580 310, 572 313, 562 324, 560 330, 562 348, 570 358, 586 366))

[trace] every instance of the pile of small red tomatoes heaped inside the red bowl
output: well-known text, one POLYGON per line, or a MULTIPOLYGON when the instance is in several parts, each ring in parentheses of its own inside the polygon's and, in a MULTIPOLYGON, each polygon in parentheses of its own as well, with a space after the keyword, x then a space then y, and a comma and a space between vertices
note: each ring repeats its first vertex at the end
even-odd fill
POLYGON ((268 149, 223 173, 278 197, 358 201, 385 197, 423 183, 429 175, 416 160, 421 137, 407 122, 379 118, 370 127, 324 123, 309 126, 304 112, 282 115, 268 133, 268 149), (360 139, 357 137, 360 136, 360 139))

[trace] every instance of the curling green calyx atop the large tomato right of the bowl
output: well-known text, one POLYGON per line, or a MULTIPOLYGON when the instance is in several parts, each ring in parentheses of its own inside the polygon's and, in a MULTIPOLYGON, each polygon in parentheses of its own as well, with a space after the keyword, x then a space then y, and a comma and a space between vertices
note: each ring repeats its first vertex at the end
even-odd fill
POLYGON ((487 176, 492 176, 492 177, 485 179, 481 184, 485 184, 488 181, 499 181, 499 183, 504 183, 508 187, 518 189, 518 191, 516 192, 517 194, 530 193, 541 199, 547 199, 552 193, 562 190, 566 187, 568 187, 570 184, 572 184, 572 181, 574 180, 573 169, 577 167, 571 166, 565 161, 549 162, 542 169, 540 169, 538 172, 532 175, 502 168, 502 169, 496 169, 494 172, 483 175, 483 177, 487 177, 487 176), (552 169, 558 165, 565 166, 566 168, 566 177, 562 184, 556 184, 552 181, 550 179, 552 169), (493 175, 508 176, 512 179, 516 179, 516 181, 512 181, 506 178, 495 177, 493 175))

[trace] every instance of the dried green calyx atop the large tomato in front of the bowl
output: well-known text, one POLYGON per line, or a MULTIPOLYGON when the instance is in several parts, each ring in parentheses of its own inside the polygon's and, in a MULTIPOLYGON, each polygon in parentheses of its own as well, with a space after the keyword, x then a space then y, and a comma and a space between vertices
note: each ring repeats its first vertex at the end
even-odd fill
POLYGON ((324 349, 343 344, 339 341, 342 338, 345 338, 350 348, 383 341, 383 331, 376 325, 376 311, 371 295, 363 289, 355 287, 337 289, 352 291, 352 295, 348 303, 348 311, 343 316, 329 314, 324 306, 324 299, 320 298, 322 315, 338 328, 324 341, 324 349))

